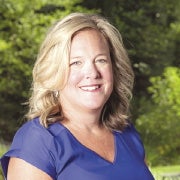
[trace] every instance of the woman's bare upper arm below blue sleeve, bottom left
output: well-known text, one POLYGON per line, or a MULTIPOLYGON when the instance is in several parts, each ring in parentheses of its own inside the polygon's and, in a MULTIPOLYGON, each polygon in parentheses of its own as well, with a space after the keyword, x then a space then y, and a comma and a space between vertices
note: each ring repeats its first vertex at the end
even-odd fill
POLYGON ((7 180, 53 180, 47 173, 20 158, 10 158, 7 180))

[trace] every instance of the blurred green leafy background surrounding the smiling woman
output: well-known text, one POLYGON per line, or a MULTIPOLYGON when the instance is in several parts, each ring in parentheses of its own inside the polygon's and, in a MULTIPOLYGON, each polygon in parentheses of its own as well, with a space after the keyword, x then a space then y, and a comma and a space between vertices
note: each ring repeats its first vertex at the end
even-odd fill
POLYGON ((24 122, 31 70, 47 28, 99 13, 120 31, 136 79, 131 119, 155 176, 180 173, 179 0, 0 0, 0 155, 24 122))

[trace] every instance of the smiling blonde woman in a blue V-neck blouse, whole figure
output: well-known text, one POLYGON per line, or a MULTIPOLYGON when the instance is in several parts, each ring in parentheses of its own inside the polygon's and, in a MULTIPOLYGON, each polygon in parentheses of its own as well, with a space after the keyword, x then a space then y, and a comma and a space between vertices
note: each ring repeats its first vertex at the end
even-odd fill
POLYGON ((133 71, 118 30, 74 13, 47 34, 30 110, 1 163, 8 180, 152 180, 128 121, 133 71))

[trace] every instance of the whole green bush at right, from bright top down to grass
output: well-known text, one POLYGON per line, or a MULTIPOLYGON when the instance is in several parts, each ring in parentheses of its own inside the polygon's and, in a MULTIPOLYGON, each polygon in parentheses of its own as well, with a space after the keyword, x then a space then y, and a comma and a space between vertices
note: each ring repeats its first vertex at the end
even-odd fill
POLYGON ((170 164, 180 160, 180 68, 168 67, 162 76, 152 77, 148 88, 152 101, 143 101, 144 109, 137 127, 143 134, 152 164, 170 164))

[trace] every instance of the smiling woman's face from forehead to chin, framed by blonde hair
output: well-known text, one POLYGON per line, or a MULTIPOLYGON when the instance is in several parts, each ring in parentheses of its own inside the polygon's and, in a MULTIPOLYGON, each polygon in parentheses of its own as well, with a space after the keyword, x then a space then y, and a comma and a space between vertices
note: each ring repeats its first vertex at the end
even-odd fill
POLYGON ((106 39, 83 30, 72 39, 70 73, 60 92, 63 110, 101 111, 113 89, 112 64, 106 39))

